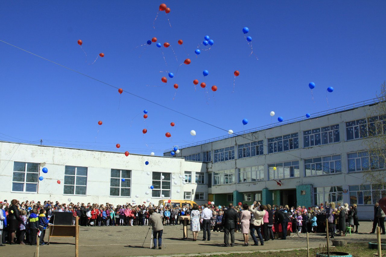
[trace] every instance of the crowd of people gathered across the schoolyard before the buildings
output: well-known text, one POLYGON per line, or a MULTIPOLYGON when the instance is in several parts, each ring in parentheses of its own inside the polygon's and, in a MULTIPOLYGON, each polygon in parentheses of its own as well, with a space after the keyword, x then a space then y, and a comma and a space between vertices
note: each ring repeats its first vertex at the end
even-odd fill
MULTIPOLYGON (((185 206, 156 206, 156 205, 116 205, 106 203, 59 203, 44 201, 19 202, 7 200, 0 202, 0 246, 9 244, 30 244, 36 245, 37 233, 40 233, 39 243, 44 245, 45 230, 54 212, 71 212, 73 224, 76 217, 79 217, 81 226, 146 226, 152 225, 154 245, 156 238, 162 238, 164 225, 181 224, 179 216, 190 216, 190 230, 193 233, 193 240, 197 240, 198 233, 203 231, 203 239, 210 241, 210 232, 224 232, 224 246, 234 245, 234 233, 243 234, 244 246, 248 246, 249 235, 254 245, 264 245, 264 242, 274 240, 274 223, 281 226, 281 239, 285 240, 288 224, 291 230, 297 233, 326 233, 326 220, 328 222, 329 235, 345 236, 347 227, 353 233, 358 232, 357 206, 337 206, 335 203, 327 203, 323 206, 306 208, 297 206, 289 208, 285 206, 261 205, 254 202, 252 205, 241 204, 238 206, 216 206, 216 205, 185 205, 185 206), (355 227, 355 231, 354 231, 355 227), (161 229, 162 228, 162 229, 161 229), (229 235, 231 243, 229 244, 229 235), (257 237, 256 237, 257 235, 257 237)), ((377 225, 384 228, 385 214, 376 203, 374 206, 374 223, 371 233, 375 232, 377 225)), ((161 240, 159 241, 161 242, 161 240)), ((159 243, 159 247, 161 247, 159 243)))

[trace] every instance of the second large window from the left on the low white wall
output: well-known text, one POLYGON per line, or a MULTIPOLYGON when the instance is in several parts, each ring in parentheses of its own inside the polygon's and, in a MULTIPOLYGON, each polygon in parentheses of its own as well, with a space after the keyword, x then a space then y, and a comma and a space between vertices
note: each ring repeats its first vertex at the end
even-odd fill
POLYGON ((86 189, 87 167, 66 166, 63 194, 86 195, 86 189))

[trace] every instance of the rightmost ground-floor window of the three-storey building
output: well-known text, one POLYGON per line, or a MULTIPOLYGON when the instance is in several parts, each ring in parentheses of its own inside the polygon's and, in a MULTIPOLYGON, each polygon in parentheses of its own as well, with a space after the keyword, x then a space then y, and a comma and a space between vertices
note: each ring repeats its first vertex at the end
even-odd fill
POLYGON ((374 205, 386 196, 386 187, 381 184, 349 186, 350 205, 374 205))

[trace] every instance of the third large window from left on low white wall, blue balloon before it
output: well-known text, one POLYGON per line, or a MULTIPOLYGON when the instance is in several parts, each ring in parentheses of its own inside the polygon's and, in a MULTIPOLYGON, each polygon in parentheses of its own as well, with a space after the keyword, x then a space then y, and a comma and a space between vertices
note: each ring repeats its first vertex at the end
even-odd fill
POLYGON ((127 169, 111 169, 110 196, 130 197, 131 171, 127 169), (125 181, 122 181, 122 180, 125 181))

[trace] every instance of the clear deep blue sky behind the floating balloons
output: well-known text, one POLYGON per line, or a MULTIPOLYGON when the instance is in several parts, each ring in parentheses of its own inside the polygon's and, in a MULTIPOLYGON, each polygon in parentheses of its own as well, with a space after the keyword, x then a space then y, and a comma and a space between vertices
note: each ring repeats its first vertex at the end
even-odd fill
MULTIPOLYGON (((374 98, 386 79, 384 1, 166 1, 172 27, 160 12, 153 29, 161 3, 1 2, 0 39, 234 132, 271 123, 271 111, 276 121, 327 110, 329 86, 335 89, 328 94, 330 108, 374 98), (259 60, 249 56, 245 26, 259 60), (196 58, 205 35, 214 45, 196 58), (178 61, 171 47, 135 48, 152 37, 169 42, 178 61), (89 63, 100 52, 105 57, 86 64, 78 39, 89 63), (160 71, 175 73, 187 57, 190 65, 183 64, 166 86, 154 87, 165 85, 161 77, 167 74, 160 71), (208 95, 193 85, 194 79, 204 81, 204 69, 208 95), (240 76, 232 93, 235 70, 240 76), (174 83, 179 88, 173 100, 174 83), (218 87, 214 93, 212 85, 218 87), (245 126, 243 118, 249 120, 245 126)), ((14 141, 9 135, 23 142, 44 139, 47 145, 161 154, 173 145, 227 134, 127 93, 120 99, 115 88, 2 42, 0 51, 0 140, 14 141)))

